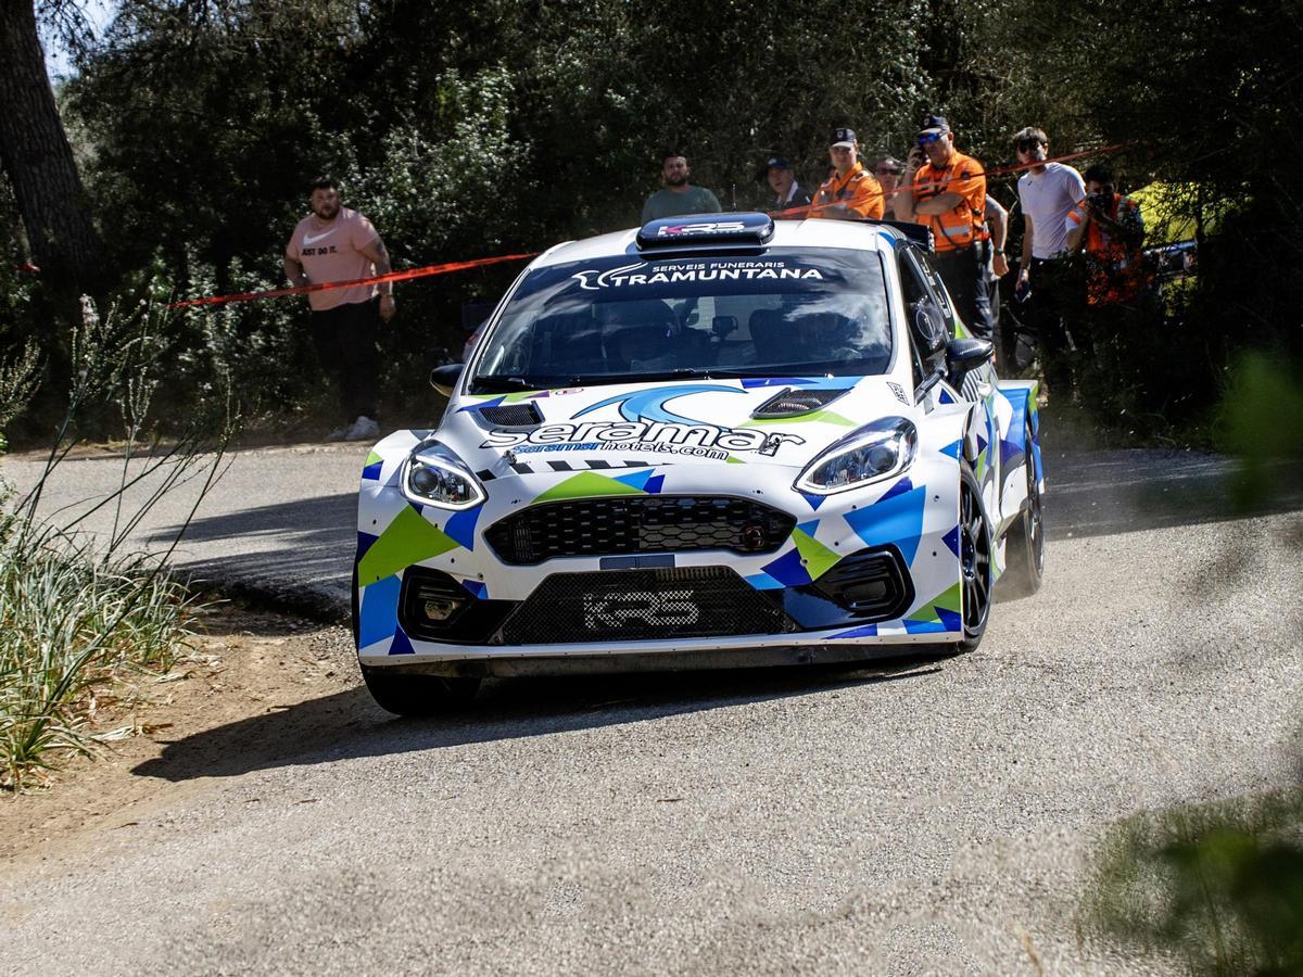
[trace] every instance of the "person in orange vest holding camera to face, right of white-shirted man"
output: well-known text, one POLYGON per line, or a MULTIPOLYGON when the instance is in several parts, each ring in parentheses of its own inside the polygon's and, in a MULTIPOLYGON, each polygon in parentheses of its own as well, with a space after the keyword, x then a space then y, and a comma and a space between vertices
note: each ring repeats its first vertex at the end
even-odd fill
POLYGON ((1140 205, 1114 190, 1113 171, 1097 164, 1085 171, 1085 199, 1067 214, 1067 250, 1085 249, 1087 302, 1131 302, 1148 287, 1140 245, 1140 205))

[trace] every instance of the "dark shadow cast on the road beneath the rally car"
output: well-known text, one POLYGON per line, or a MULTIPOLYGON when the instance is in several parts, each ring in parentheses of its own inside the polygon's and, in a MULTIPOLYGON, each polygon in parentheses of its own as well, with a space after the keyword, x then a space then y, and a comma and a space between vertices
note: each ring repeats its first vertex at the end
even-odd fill
POLYGON ((870 667, 506 679, 487 681, 466 709, 440 719, 399 719, 366 689, 332 696, 194 733, 168 744, 139 776, 192 780, 337 759, 446 749, 641 723, 684 713, 782 700, 941 672, 945 659, 902 659, 870 667))

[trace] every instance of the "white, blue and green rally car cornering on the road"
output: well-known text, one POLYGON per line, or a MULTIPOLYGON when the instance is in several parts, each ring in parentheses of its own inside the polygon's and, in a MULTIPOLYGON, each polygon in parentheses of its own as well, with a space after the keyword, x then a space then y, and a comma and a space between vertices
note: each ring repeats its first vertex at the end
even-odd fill
POLYGON ((971 650, 1042 569, 1036 383, 924 228, 723 214, 552 248, 440 426, 362 470, 353 630, 384 709, 483 676, 971 650))

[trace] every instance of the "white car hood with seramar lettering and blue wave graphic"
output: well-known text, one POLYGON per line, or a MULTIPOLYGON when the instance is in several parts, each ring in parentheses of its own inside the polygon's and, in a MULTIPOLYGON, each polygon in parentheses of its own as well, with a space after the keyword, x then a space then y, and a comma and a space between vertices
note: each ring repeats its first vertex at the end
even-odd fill
POLYGON ((433 436, 495 475, 666 464, 799 469, 870 421, 915 414, 887 376, 693 379, 455 396, 433 436))

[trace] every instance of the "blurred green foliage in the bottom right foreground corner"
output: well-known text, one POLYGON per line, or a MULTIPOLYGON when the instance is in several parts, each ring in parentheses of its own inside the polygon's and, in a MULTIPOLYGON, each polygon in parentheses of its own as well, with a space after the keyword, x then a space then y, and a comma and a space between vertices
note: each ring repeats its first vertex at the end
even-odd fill
POLYGON ((1303 789, 1115 825, 1080 925, 1173 952, 1196 974, 1303 972, 1303 789))

